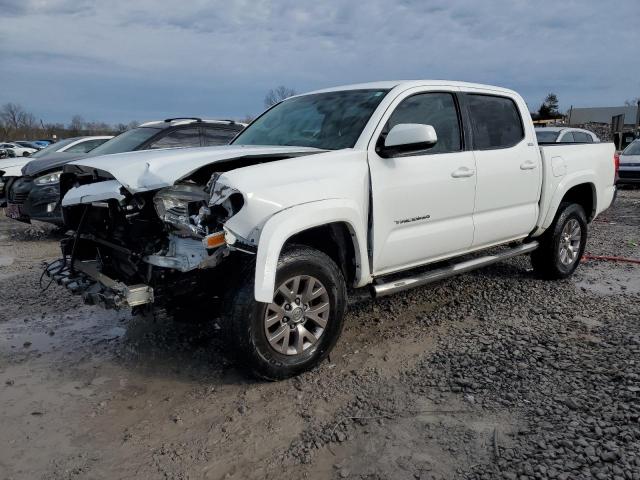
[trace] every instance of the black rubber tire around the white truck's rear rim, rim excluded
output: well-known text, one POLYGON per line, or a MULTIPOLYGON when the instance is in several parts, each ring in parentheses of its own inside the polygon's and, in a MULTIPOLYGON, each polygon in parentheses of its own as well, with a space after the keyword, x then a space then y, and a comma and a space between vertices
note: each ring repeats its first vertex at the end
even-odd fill
POLYGON ((561 203, 555 220, 540 239, 540 246, 531 254, 531 264, 535 273, 548 280, 569 277, 578 268, 586 244, 587 216, 584 209, 575 203, 561 203), (566 263, 566 257, 564 262, 561 259, 561 242, 564 241, 563 230, 572 220, 580 226, 580 241, 576 257, 570 263, 566 263))

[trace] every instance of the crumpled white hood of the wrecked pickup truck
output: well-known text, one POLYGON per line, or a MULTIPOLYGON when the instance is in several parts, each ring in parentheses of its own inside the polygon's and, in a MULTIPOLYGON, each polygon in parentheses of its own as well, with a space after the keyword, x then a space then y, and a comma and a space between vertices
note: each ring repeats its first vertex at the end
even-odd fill
POLYGON ((309 147, 225 145, 116 153, 85 158, 71 162, 71 165, 107 172, 129 192, 137 193, 171 186, 196 170, 217 162, 243 157, 309 155, 323 151, 309 147))

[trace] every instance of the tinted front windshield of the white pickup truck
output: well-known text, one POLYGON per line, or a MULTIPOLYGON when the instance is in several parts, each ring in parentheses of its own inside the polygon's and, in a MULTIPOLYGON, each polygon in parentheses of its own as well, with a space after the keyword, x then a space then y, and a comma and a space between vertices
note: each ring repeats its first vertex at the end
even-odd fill
POLYGON ((290 98, 259 117, 232 143, 352 148, 387 92, 345 90, 290 98))

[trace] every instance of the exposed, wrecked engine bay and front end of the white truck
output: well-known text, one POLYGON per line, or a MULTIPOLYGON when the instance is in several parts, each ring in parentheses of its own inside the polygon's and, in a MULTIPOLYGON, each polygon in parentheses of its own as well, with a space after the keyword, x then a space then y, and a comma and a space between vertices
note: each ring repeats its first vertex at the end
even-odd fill
MULTIPOLYGON (((63 215, 71 233, 61 242, 62 259, 45 273, 87 303, 110 308, 161 305, 166 297, 204 290, 215 296, 224 283, 222 264, 231 267, 234 258, 256 252, 242 239, 233 237, 230 245, 225 238, 225 222, 245 199, 219 181, 221 174, 291 156, 234 159, 159 190, 131 194, 120 187, 111 198, 67 205, 63 215), (220 267, 215 275, 214 267, 220 267)), ((119 185, 107 172, 70 164, 61 177, 61 195, 101 182, 119 185)))

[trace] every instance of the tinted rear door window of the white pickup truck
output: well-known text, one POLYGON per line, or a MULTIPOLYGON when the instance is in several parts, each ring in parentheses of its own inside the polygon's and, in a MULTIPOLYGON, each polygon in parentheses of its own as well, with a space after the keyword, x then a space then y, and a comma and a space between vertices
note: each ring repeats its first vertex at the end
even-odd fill
POLYGON ((513 147, 524 138, 515 102, 495 95, 467 94, 474 150, 513 147))

